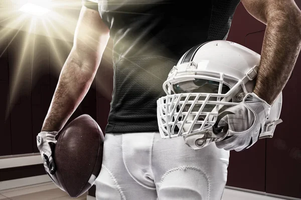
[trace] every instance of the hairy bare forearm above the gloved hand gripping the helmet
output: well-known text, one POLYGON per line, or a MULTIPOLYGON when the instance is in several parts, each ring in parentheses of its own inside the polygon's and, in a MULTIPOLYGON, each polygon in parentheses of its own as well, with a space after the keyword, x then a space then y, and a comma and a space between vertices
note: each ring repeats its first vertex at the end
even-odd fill
POLYGON ((267 19, 254 93, 272 104, 287 83, 301 48, 301 16, 274 13, 267 19))

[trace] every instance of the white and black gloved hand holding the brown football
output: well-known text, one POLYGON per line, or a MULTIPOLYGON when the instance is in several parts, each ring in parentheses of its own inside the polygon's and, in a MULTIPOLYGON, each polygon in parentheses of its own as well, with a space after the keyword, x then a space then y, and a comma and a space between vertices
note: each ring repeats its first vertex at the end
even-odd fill
MULTIPOLYGON (((42 131, 37 135, 37 145, 42 155, 44 168, 47 174, 50 176, 52 181, 62 190, 63 187, 60 185, 56 176, 56 164, 54 160, 54 149, 57 140, 55 136, 58 134, 57 131, 47 132, 42 131)), ((65 190, 64 190, 65 191, 65 190)))

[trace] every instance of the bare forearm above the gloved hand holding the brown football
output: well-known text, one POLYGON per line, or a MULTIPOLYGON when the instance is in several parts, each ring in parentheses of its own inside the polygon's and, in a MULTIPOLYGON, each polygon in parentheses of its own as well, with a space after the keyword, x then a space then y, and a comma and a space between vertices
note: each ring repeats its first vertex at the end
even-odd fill
POLYGON ((41 131, 59 131, 88 92, 96 71, 73 55, 67 58, 41 131))

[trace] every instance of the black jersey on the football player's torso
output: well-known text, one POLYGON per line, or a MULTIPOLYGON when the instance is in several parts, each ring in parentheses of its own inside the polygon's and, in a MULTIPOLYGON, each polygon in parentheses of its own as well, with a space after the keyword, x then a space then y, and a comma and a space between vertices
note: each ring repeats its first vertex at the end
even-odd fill
MULTIPOLYGON (((87 1, 87 0, 86 0, 87 1)), ((98 0, 113 39, 114 82, 105 132, 159 131, 163 82, 191 47, 226 39, 240 0, 98 0)))

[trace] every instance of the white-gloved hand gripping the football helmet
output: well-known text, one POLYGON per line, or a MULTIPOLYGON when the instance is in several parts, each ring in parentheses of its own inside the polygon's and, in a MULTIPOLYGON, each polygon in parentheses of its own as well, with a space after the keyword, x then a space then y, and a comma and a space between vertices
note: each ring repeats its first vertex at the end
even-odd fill
POLYGON ((220 119, 218 127, 228 127, 227 136, 216 141, 216 146, 235 151, 251 147, 258 140, 269 116, 270 107, 271 105, 255 93, 247 93, 239 104, 222 112, 226 115, 220 119))

